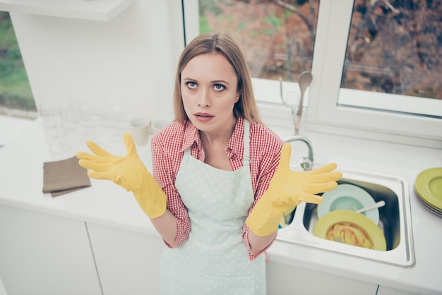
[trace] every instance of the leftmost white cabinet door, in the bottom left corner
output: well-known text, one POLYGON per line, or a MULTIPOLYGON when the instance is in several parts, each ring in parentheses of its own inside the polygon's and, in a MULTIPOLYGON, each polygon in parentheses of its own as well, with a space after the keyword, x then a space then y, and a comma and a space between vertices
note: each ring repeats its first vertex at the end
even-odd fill
POLYGON ((8 295, 102 294, 84 222, 3 205, 0 277, 8 295))

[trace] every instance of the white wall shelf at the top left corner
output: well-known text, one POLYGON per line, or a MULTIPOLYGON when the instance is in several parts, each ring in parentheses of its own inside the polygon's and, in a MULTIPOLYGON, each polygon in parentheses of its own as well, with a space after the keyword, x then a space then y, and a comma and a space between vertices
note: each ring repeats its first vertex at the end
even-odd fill
POLYGON ((135 0, 0 0, 0 11, 108 21, 135 0))

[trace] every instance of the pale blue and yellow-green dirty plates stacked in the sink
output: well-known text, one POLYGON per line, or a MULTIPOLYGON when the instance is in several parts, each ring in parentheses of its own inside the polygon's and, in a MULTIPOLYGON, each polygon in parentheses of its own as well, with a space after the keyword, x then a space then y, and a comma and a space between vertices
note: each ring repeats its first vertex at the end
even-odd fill
POLYGON ((369 193, 359 186, 340 184, 335 190, 324 193, 323 198, 323 203, 318 205, 314 236, 386 251, 386 239, 378 227, 379 210, 375 208, 362 213, 354 212, 375 204, 369 193))

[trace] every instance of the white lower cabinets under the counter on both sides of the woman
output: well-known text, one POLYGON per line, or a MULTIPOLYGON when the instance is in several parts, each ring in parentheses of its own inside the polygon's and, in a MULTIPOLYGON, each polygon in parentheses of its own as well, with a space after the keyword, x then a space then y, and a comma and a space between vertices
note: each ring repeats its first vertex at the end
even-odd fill
MULTIPOLYGON (((164 248, 157 235, 0 205, 0 279, 8 295, 160 294, 164 248)), ((415 295, 275 261, 267 264, 267 290, 415 295)))

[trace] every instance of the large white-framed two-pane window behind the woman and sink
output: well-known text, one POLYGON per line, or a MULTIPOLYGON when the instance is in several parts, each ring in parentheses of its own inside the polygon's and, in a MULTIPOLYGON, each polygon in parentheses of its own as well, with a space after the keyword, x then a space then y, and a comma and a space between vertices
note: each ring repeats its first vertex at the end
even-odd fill
POLYGON ((232 35, 260 102, 298 95, 299 73, 311 71, 307 131, 442 148, 441 9, 412 0, 184 0, 185 35, 232 35))

